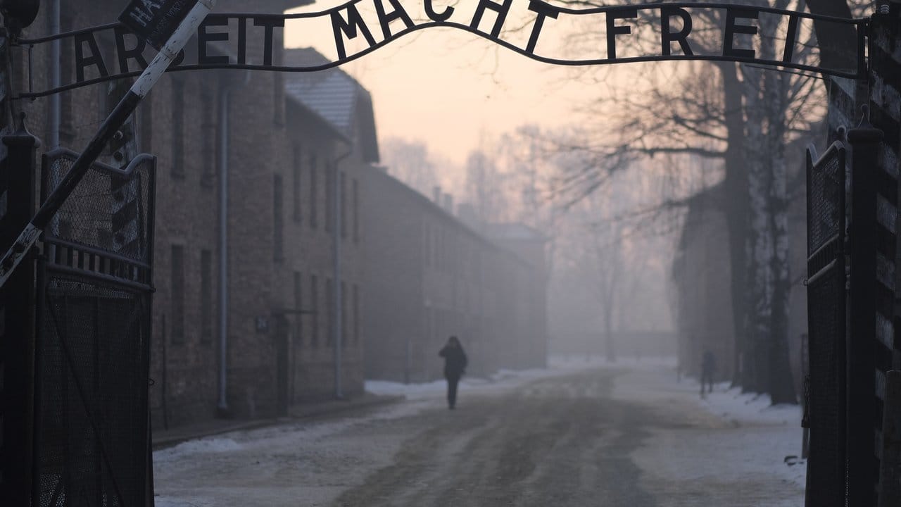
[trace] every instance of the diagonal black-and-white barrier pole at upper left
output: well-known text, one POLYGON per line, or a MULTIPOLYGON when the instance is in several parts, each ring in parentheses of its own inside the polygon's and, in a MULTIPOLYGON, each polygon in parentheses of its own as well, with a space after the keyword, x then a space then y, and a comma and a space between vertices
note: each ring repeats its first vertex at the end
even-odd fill
POLYGON ((181 50, 191 35, 196 32, 197 27, 204 21, 206 14, 209 14, 213 5, 215 5, 215 0, 197 1, 197 4, 187 14, 185 20, 178 25, 176 31, 169 37, 166 45, 157 53, 157 56, 150 62, 147 69, 134 81, 132 88, 128 90, 125 97, 119 101, 113 112, 100 125, 100 130, 97 131, 90 143, 87 143, 85 151, 78 155, 66 176, 59 181, 59 186, 44 201, 41 208, 38 209, 38 213, 24 227, 22 234, 19 235, 13 246, 0 260, 0 286, 6 283, 15 267, 22 262, 25 253, 38 241, 41 229, 46 227, 50 222, 50 218, 56 215, 59 207, 77 187, 78 182, 81 181, 91 164, 103 152, 106 144, 113 138, 119 127, 125 123, 129 115, 132 115, 141 99, 150 93, 150 88, 153 88, 153 85, 166 72, 169 64, 172 63, 172 60, 175 60, 178 51, 181 50))

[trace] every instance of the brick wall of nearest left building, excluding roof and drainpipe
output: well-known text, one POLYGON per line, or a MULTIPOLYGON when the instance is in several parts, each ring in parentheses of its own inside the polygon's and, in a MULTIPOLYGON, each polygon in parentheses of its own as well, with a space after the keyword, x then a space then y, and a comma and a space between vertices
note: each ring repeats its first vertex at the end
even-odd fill
MULTIPOLYGON (((285 9, 280 1, 220 1, 220 12, 272 13, 285 9)), ((72 30, 114 22, 121 5, 112 0, 89 5, 63 3, 63 30, 72 30)), ((49 9, 41 11, 38 22, 25 36, 49 32, 49 9)), ((249 38, 248 48, 261 51, 261 38, 249 38)), ((105 51, 109 41, 98 41, 105 51)), ((282 44, 277 31, 277 48, 282 44)), ((190 45, 189 45, 190 47, 190 45)), ((64 50, 65 51, 65 50, 64 50)), ((189 50, 191 51, 191 50, 189 50)), ((278 51, 277 51, 278 53, 278 51)), ((18 54, 17 76, 24 83, 27 62, 18 54)), ((277 58, 279 55, 277 54, 277 58)), ((64 71, 71 55, 63 55, 64 71)), ((49 80, 49 54, 35 51, 32 80, 40 86, 49 80)), ((175 426, 212 418, 216 414, 219 393, 220 325, 220 171, 219 156, 223 115, 220 103, 227 97, 228 166, 228 409, 234 417, 267 416, 278 410, 279 343, 274 317, 284 309, 296 309, 294 273, 301 274, 303 300, 309 300, 311 276, 319 280, 318 308, 322 315, 302 314, 294 327, 289 348, 289 370, 283 372, 292 384, 292 402, 332 396, 334 379, 333 349, 327 346, 329 324, 324 318, 324 283, 332 278, 331 233, 325 232, 325 161, 333 166, 346 151, 340 135, 326 128, 323 120, 296 104, 286 103, 278 93, 282 77, 271 72, 241 70, 205 70, 169 73, 139 107, 141 151, 158 157, 157 215, 154 249, 154 285, 151 367, 155 384, 150 388, 150 407, 154 427, 175 426), (227 91, 226 91, 227 90, 227 91), (180 135, 179 135, 180 134, 180 135), (180 140, 180 141, 179 141, 180 140), (316 152, 318 187, 310 195, 310 171, 305 167, 300 187, 303 213, 294 218, 296 197, 291 182, 296 147, 303 154, 316 152), (314 148, 314 149, 313 149, 314 148), (282 255, 274 251, 276 239, 274 210, 276 177, 285 183, 282 189, 282 255), (310 202, 317 206, 318 224, 311 226, 310 202), (181 259, 183 276, 173 277, 173 255, 181 259), (184 307, 173 309, 173 290, 180 287, 184 307), (207 303, 205 304, 205 300, 207 303), (175 310, 175 311, 174 311, 175 310), (180 310, 180 311, 179 311, 180 310), (175 321, 183 315, 181 322, 175 321), (268 329, 258 330, 259 319, 268 329), (319 326, 319 344, 312 346, 307 336, 314 320, 319 326), (296 335, 296 339, 294 338, 296 335)), ((61 94, 62 128, 60 143, 81 150, 105 117, 105 90, 98 84, 61 94)), ((37 87, 36 87, 37 88, 37 87)), ((50 99, 41 98, 23 104, 28 124, 44 139, 50 137, 50 99)), ((43 147, 51 148, 50 146, 43 147)), ((341 163, 346 173, 347 196, 352 182, 366 164, 359 155, 341 163)), ((358 183, 359 192, 359 183, 358 183)), ((350 209, 350 207, 348 207, 350 209)), ((343 240, 344 280, 348 289, 347 305, 352 307, 354 287, 359 294, 360 237, 343 240)), ((362 300, 358 296, 358 300, 362 300)), ((361 304, 361 302, 360 302, 361 304)), ((308 309, 305 304, 301 309, 308 309)), ((283 312, 282 312, 283 313, 283 312)), ((348 330, 359 329, 348 309, 348 330)), ((360 332, 361 333, 361 332, 360 332)), ((345 393, 362 392, 361 339, 350 333, 344 348, 345 393)), ((284 352, 283 350, 281 352, 284 352)))

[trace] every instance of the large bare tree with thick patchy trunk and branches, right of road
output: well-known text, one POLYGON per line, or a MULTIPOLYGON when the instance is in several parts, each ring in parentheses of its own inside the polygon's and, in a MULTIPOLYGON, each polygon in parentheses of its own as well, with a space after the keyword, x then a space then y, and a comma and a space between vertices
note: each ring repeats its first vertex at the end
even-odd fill
MULTIPOLYGON (((771 6, 799 7, 788 0, 771 6)), ((711 10, 703 15, 719 14, 711 10)), ((786 28, 775 15, 761 14, 759 23, 761 33, 777 35, 757 38, 755 51, 761 59, 777 60, 778 38, 784 38, 786 28)), ((705 40, 721 44, 717 37, 705 40)), ((799 58, 815 59, 815 31, 800 32, 799 40, 799 58)), ((790 273, 784 147, 822 118, 824 90, 815 77, 797 73, 729 62, 689 65, 687 78, 660 66, 646 67, 638 76, 642 84, 632 83, 625 90, 606 84, 604 74, 594 80, 592 84, 605 86, 607 92, 594 109, 598 123, 560 136, 548 148, 583 153, 582 164, 569 165, 560 174, 556 190, 563 201, 576 202, 603 188, 612 174, 634 161, 661 153, 721 161, 725 189, 721 207, 733 267, 734 370, 742 372, 734 380, 746 389, 769 392, 774 402, 794 401, 787 377, 790 273), (635 94, 634 88, 642 89, 642 94, 635 94)))

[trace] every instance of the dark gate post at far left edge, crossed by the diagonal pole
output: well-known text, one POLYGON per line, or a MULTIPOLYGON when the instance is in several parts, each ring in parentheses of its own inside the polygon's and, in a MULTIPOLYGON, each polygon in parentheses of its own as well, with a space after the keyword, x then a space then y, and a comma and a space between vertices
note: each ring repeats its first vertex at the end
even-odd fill
MULTIPOLYGON (((2 139, 8 152, 0 171, 5 210, 0 208, 0 248, 11 246, 18 231, 36 209, 35 152, 40 141, 28 132, 24 115, 14 134, 2 139)), ((2 337, 2 447, 0 447, 0 505, 29 505, 32 481, 32 422, 34 415, 35 281, 32 253, 0 289, 2 337)))

